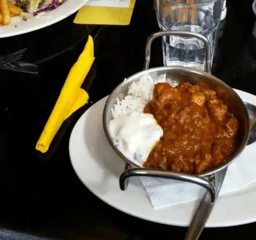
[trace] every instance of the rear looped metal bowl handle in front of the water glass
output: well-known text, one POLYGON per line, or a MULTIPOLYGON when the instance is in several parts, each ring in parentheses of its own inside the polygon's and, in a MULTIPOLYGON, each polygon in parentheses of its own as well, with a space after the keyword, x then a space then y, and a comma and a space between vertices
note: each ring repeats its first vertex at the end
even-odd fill
POLYGON ((211 53, 211 44, 208 41, 208 39, 205 36, 201 35, 200 33, 186 32, 186 31, 172 31, 172 30, 155 32, 155 33, 152 33, 152 35, 150 35, 149 38, 147 38, 144 70, 149 69, 149 66, 150 66, 151 44, 153 40, 158 37, 164 37, 164 36, 194 37, 201 40, 206 46, 206 72, 211 73, 212 53, 211 53))

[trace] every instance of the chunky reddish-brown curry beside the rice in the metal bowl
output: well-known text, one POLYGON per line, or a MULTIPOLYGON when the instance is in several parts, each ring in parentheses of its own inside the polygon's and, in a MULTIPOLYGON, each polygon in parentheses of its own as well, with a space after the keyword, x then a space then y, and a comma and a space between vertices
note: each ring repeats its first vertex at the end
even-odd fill
POLYGON ((235 150, 238 120, 210 88, 158 83, 144 112, 164 131, 144 167, 201 174, 228 161, 235 150))

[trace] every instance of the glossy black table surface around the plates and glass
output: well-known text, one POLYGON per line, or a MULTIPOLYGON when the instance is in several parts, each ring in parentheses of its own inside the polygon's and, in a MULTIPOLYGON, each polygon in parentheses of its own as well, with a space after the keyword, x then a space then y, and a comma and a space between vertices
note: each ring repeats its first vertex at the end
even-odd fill
MULTIPOLYGON (((251 5, 249 0, 227 0, 224 34, 219 40, 213 74, 232 87, 256 94, 256 18, 251 5)), ((84 87, 90 100, 96 102, 125 77, 142 70, 146 38, 158 30, 152 1, 137 0, 129 26, 109 26, 98 35, 99 26, 75 26, 73 17, 16 38, 28 45, 26 59, 38 64, 37 76, 0 72, 0 239, 183 239, 186 228, 146 222, 119 212, 93 196, 78 180, 71 167, 68 141, 86 107, 66 122, 56 140, 56 151, 43 156, 35 150, 88 33, 95 37, 97 49, 84 87), (72 34, 67 37, 66 32, 72 34), (38 35, 54 37, 45 45, 38 35), (38 44, 32 44, 31 39, 38 44)), ((3 51, 15 48, 16 39, 0 39, 3 51)), ((160 66, 159 42, 153 44, 152 54, 151 66, 160 66)), ((205 229, 200 239, 255 240, 255 228, 252 223, 205 229)))

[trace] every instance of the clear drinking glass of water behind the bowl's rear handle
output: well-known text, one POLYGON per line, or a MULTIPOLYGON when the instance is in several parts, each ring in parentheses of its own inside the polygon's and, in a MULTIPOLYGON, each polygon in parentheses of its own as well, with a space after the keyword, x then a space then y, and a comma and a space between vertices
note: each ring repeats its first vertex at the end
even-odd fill
MULTIPOLYGON (((223 2, 224 0, 155 0, 159 28, 164 31, 200 33, 210 42, 214 56, 223 2)), ((205 70, 205 46, 200 39, 165 36, 162 38, 162 46, 165 66, 186 66, 205 70)))

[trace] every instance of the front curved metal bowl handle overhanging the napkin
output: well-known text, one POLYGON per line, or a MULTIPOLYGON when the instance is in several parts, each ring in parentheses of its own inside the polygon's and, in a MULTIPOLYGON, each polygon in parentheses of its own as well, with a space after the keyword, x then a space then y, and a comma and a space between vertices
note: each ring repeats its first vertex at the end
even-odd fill
POLYGON ((214 203, 216 199, 214 182, 212 183, 211 181, 207 181, 203 177, 184 173, 173 173, 167 170, 158 170, 151 168, 130 168, 128 164, 126 164, 124 172, 119 177, 120 189, 126 190, 129 184, 129 178, 134 176, 159 177, 162 179, 172 179, 198 184, 199 186, 204 187, 210 193, 211 203, 214 203))

